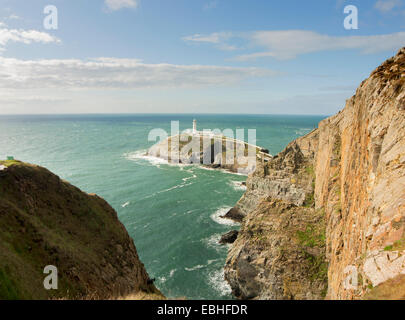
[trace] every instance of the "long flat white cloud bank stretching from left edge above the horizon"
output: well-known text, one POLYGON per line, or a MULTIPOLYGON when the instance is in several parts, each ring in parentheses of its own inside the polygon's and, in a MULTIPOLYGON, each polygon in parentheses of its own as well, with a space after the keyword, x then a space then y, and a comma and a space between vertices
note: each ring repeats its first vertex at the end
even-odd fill
POLYGON ((0 57, 0 88, 148 88, 232 85, 278 75, 260 68, 145 64, 136 59, 18 60, 0 57))

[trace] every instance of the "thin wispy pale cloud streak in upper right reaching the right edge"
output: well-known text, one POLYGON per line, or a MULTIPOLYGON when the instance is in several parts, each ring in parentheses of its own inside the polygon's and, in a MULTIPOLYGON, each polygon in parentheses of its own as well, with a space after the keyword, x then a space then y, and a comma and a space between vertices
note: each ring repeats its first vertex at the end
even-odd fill
POLYGON ((232 44, 232 40, 235 39, 248 43, 246 47, 256 48, 256 52, 239 55, 235 60, 247 61, 264 57, 287 60, 320 51, 359 50, 363 54, 372 54, 396 50, 405 43, 405 32, 338 37, 306 30, 282 30, 251 33, 217 32, 183 37, 184 41, 213 44, 222 50, 226 50, 227 47, 230 50, 242 48, 232 44))

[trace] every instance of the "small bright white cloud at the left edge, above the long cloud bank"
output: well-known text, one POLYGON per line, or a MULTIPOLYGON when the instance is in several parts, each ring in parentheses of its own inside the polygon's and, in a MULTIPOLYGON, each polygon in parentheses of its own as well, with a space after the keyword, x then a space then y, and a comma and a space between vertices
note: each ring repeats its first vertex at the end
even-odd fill
POLYGON ((2 26, 0 25, 0 51, 3 51, 4 47, 9 42, 21 42, 30 44, 33 42, 60 42, 60 40, 46 32, 40 32, 36 30, 7 29, 2 28, 2 26))

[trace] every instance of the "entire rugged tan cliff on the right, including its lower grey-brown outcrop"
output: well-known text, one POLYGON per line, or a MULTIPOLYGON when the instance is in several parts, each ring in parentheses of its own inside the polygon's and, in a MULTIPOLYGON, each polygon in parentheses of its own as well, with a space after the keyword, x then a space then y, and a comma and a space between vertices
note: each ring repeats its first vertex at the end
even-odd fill
POLYGON ((234 208, 245 218, 225 267, 236 296, 318 299, 327 282, 327 298, 359 299, 403 279, 404 84, 405 48, 341 112, 248 177, 234 208), (319 268, 303 267, 306 254, 319 268))

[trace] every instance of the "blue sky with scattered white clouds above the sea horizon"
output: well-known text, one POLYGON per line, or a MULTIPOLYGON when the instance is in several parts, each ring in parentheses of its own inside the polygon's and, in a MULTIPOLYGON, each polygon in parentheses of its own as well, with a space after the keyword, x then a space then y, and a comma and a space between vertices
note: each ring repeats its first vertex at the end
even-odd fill
POLYGON ((331 115, 405 45, 405 0, 0 4, 0 114, 331 115))

